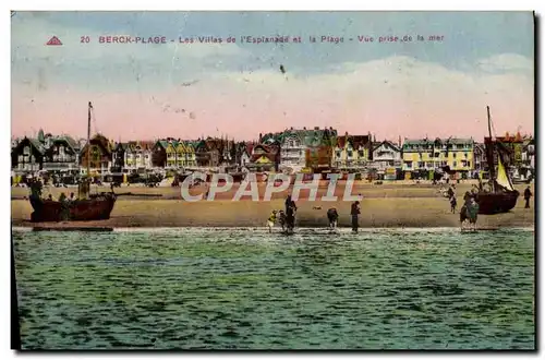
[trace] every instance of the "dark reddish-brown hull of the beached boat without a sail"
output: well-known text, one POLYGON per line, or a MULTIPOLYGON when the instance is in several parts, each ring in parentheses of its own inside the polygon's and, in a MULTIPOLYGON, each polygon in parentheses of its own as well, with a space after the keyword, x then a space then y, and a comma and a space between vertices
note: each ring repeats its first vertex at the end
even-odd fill
POLYGON ((34 212, 31 221, 92 221, 106 220, 116 204, 116 195, 105 194, 88 200, 58 202, 51 200, 31 199, 34 212))

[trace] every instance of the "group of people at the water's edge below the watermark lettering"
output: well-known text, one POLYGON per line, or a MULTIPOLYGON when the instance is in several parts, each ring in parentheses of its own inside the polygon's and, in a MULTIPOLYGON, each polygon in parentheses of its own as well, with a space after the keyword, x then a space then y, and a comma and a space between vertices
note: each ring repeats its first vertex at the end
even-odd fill
MULTIPOLYGON (((270 213, 269 218, 267 219, 267 227, 269 229, 269 232, 272 232, 272 228, 275 227, 275 224, 277 221, 282 227, 282 231, 287 233, 293 232, 293 229, 295 228, 295 213, 298 211, 298 207, 295 205, 295 202, 291 199, 291 195, 288 195, 284 205, 286 212, 281 209, 274 209, 270 213)), ((352 217, 352 232, 358 232, 360 214, 360 202, 355 201, 354 203, 352 203, 350 209, 350 215, 352 217)), ((337 212, 337 207, 328 208, 326 216, 329 223, 329 229, 334 231, 335 229, 337 229, 337 225, 339 221, 339 213, 337 212)))

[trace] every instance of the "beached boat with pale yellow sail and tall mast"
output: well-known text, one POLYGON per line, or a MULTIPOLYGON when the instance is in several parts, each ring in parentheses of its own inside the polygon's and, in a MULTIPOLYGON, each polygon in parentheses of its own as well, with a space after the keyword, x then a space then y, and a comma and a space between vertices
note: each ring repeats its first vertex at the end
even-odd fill
POLYGON ((501 149, 497 142, 493 141, 491 128, 491 108, 486 107, 488 116, 488 135, 485 139, 486 161, 488 163, 488 171, 491 173, 492 191, 485 192, 481 190, 477 194, 479 214, 494 215, 507 213, 517 205, 517 199, 520 193, 514 190, 511 178, 507 172, 504 163, 501 161, 501 149), (497 173, 494 166, 494 149, 498 153, 497 173))

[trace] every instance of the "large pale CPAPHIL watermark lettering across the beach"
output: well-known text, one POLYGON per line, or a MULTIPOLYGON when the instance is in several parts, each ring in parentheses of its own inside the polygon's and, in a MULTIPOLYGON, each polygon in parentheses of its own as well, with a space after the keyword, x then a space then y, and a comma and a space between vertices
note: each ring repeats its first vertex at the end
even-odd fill
MULTIPOLYGON (((293 187, 291 190, 291 199, 293 201, 299 200, 301 196, 301 191, 307 190, 308 201, 338 201, 338 196, 335 195, 337 185, 339 183, 339 173, 328 173, 327 179, 329 183, 327 185, 326 193, 318 197, 319 180, 322 176, 315 173, 312 180, 305 179, 304 173, 298 173, 295 176, 293 187)), ((197 201, 214 201, 216 195, 220 193, 229 192, 235 181, 230 173, 214 173, 210 182, 206 182, 207 176, 204 172, 193 172, 187 176, 183 182, 180 184, 182 199, 187 202, 197 201), (192 195, 190 189, 194 185, 204 183, 203 191, 198 194, 192 195)), ((252 201, 270 201, 274 193, 281 193, 290 188, 292 177, 284 173, 274 173, 270 175, 265 183, 265 193, 263 197, 259 197, 259 183, 256 179, 255 173, 249 172, 244 180, 240 182, 238 190, 234 192, 232 201, 240 201, 242 197, 250 197, 252 201)), ((349 173, 348 179, 343 182, 344 191, 342 194, 342 201, 353 202, 361 201, 363 196, 361 194, 353 195, 352 189, 355 181, 355 173, 349 173)))

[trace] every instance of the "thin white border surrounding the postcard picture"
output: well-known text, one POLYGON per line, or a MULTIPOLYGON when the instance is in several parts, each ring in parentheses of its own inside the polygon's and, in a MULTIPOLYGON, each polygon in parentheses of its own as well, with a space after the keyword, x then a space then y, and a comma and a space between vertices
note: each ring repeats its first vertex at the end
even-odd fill
MULTIPOLYGON (((194 2, 179 2, 179 1, 164 1, 164 0, 155 0, 155 1, 142 1, 142 0, 133 0, 133 1, 123 1, 123 2, 114 2, 114 1, 105 1, 105 0, 95 0, 93 2, 90 1, 58 1, 58 0, 49 0, 47 2, 41 2, 41 1, 4 1, 2 2, 2 12, 0 12, 0 34, 2 36, 0 37, 0 44, 2 45, 2 67, 0 70, 0 79, 1 79, 1 84, 2 84, 2 96, 0 98, 0 111, 2 112, 2 119, 3 121, 1 122, 2 130, 1 134, 5 139, 5 144, 3 146, 4 152, 0 153, 0 157, 2 158, 2 168, 3 168, 3 173, 4 176, 1 177, 0 181, 0 192, 2 193, 2 199, 5 199, 4 202, 0 204, 1 206, 1 215, 2 218, 4 219, 2 221, 1 230, 2 230, 2 237, 3 241, 1 242, 2 244, 2 272, 0 276, 0 281, 2 285, 3 291, 3 297, 1 298, 2 302, 2 309, 4 311, 4 315, 2 316, 2 325, 0 326, 0 338, 2 339, 2 358, 4 356, 7 358, 14 358, 16 353, 14 351, 9 350, 10 348, 10 261, 9 261, 9 254, 10 254, 10 223, 8 221, 8 218, 11 215, 11 206, 10 202, 8 199, 11 197, 10 191, 9 191, 9 185, 8 185, 8 179, 9 179, 9 164, 11 164, 10 156, 8 155, 8 142, 10 139, 11 134, 11 116, 10 116, 10 82, 11 82, 11 74, 10 74, 10 64, 11 64, 11 57, 10 57, 10 39, 11 39, 11 29, 10 29, 10 17, 8 17, 8 12, 9 10, 523 10, 523 11, 529 11, 529 10, 535 10, 537 13, 545 13, 544 9, 544 3, 543 1, 524 1, 524 0, 518 0, 518 1, 475 1, 475 0, 458 0, 458 1, 423 1, 423 0, 412 0, 412 1, 392 1, 392 0, 382 0, 382 1, 373 1, 370 3, 365 3, 365 5, 359 5, 354 7, 354 1, 348 1, 348 0, 337 0, 337 1, 301 1, 299 3, 295 3, 293 0, 276 0, 276 1, 229 1, 229 2, 223 2, 223 1, 209 1, 209 0, 199 0, 199 1, 194 1, 194 2), (312 4, 312 7, 310 7, 312 4)), ((543 27, 543 24, 542 24, 543 27)), ((543 48, 543 36, 540 36, 540 46, 543 48)), ((540 64, 542 64, 542 60, 540 59, 540 64)), ((537 63, 535 64, 536 67, 538 65, 537 63)), ((543 100, 543 94, 540 96, 540 100, 543 100)), ((543 104, 543 103, 542 103, 543 104)), ((538 115, 535 115, 536 118, 538 118, 538 115)), ((537 134, 537 139, 541 139, 542 136, 542 129, 541 127, 540 133, 537 134)), ((541 147, 541 146, 540 146, 541 147)), ((543 169, 545 166, 545 157, 537 156, 538 159, 538 167, 540 169, 543 169)), ((540 189, 543 189, 543 179, 542 176, 538 175, 537 179, 540 181, 540 189)), ((541 230, 541 225, 542 225, 542 215, 538 214, 538 226, 541 230)), ((536 239, 538 241, 538 239, 536 239)), ((540 247, 540 259, 543 259, 543 245, 540 247)), ((541 277, 540 277, 541 278, 541 277)), ((540 297, 540 299, 542 299, 540 297)), ((543 313, 543 308, 540 308, 543 313)), ((541 323, 541 322, 538 322, 541 323)), ((540 332, 541 334, 541 339, 536 344, 545 344, 543 341, 543 332, 540 332)), ((71 353, 69 356, 77 356, 80 358, 94 358, 96 355, 89 355, 89 353, 71 353)), ((208 355, 199 355, 198 358, 216 358, 216 357, 225 357, 225 356, 230 356, 230 357, 239 357, 241 353, 208 353, 208 355)), ((299 353, 293 353, 293 355, 287 355, 287 353, 263 353, 263 355, 255 355, 255 356, 267 356, 267 357, 274 357, 274 358, 280 358, 280 357, 294 357, 298 356, 299 353)), ((311 356, 318 355, 318 353, 308 353, 311 356)), ((307 355, 307 356, 308 356, 307 355)), ((447 355, 447 353, 445 353, 447 355)), ((477 357, 481 353, 448 353, 448 356, 451 357, 463 357, 463 358, 473 358, 477 357)), ((59 353, 50 353, 49 356, 57 357, 59 353)), ((114 355, 114 353, 109 353, 106 356, 101 356, 104 359, 113 359, 118 358, 119 356, 132 358, 133 356, 137 356, 138 358, 142 359, 155 359, 158 358, 159 356, 164 357, 166 356, 165 353, 158 353, 158 355, 152 355, 152 353, 146 353, 146 355, 136 355, 136 353, 126 353, 126 355, 114 355)), ((184 358, 196 358, 197 355, 168 355, 169 357, 177 357, 177 356, 183 356, 184 358)), ((253 356, 253 355, 251 355, 253 356)), ((318 355, 324 358, 336 358, 338 355, 337 353, 323 353, 318 355)), ((362 356, 366 357, 367 359, 378 359, 383 358, 385 355, 372 355, 372 353, 352 353, 352 356, 362 356)), ((407 353, 399 353, 399 355, 387 355, 389 358, 400 358, 400 357, 405 357, 407 353)), ((413 353, 415 357, 423 357, 426 356, 426 353, 413 353)), ((437 353, 428 353, 427 356, 437 356, 437 353)), ((484 357, 493 357, 496 356, 495 353, 488 353, 488 355, 482 355, 484 357)), ((519 356, 524 356, 524 355, 519 355, 519 356)), ((526 355, 526 356, 532 356, 532 355, 526 355)), ((25 358, 27 359, 34 359, 37 358, 38 355, 26 355, 25 358)))

